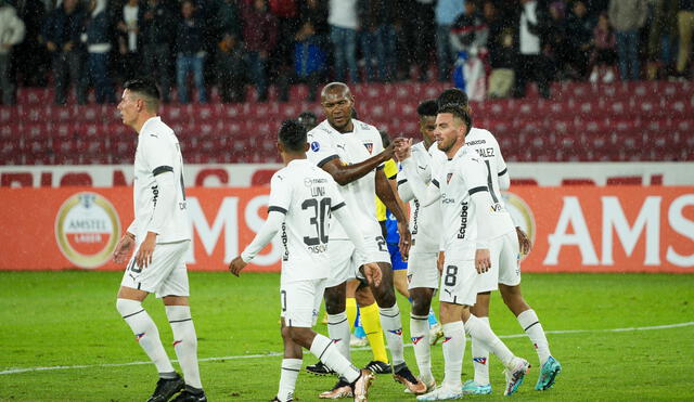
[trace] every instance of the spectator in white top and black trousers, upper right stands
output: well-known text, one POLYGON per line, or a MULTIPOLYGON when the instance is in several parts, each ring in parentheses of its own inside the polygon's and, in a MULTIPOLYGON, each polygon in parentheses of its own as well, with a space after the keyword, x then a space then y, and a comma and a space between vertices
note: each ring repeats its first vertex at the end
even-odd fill
POLYGON ((517 16, 518 64, 516 65, 515 98, 525 96, 528 80, 537 82, 540 95, 550 98, 550 66, 542 54, 542 36, 547 16, 536 0, 520 0, 517 16))

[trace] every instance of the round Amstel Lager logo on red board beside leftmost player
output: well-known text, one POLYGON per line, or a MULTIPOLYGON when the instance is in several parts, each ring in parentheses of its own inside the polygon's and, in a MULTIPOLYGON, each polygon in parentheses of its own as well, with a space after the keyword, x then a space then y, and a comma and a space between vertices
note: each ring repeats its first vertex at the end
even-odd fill
POLYGON ((118 243, 120 220, 108 199, 82 192, 67 198, 55 217, 55 239, 63 255, 80 268, 98 268, 118 243))

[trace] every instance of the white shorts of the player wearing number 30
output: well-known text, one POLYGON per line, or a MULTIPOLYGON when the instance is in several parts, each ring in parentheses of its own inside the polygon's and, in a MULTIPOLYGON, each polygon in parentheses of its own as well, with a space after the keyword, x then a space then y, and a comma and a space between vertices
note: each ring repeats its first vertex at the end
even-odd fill
POLYGON ((325 280, 306 280, 282 283, 280 304, 286 326, 311 328, 316 325, 323 300, 325 280))

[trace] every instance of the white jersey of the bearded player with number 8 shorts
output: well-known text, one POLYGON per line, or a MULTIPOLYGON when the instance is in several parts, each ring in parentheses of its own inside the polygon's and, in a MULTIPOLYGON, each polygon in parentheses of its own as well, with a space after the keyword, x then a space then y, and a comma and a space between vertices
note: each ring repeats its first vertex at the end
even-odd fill
POLYGON ((472 150, 462 146, 455 155, 436 169, 432 184, 440 192, 444 234, 441 249, 451 260, 471 260, 477 249, 477 217, 471 195, 487 191, 487 173, 483 161, 472 150))

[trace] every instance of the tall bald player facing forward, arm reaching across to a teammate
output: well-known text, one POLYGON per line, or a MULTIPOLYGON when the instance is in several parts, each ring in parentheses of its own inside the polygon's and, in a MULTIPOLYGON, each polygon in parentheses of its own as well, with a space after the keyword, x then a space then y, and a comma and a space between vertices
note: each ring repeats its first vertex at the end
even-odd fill
MULTIPOLYGON (((393 157, 393 145, 383 148, 381 134, 373 126, 351 118, 355 99, 342 82, 326 85, 321 92, 321 105, 326 119, 308 133, 309 160, 330 173, 348 204, 352 205, 351 219, 364 234, 369 260, 377 261, 383 272, 380 285, 371 290, 380 308, 381 324, 391 353, 393 373, 413 393, 422 393, 426 387, 419 381, 404 362, 402 322, 393 287, 393 269, 386 241, 381 234, 374 210, 374 193, 393 211, 398 220, 400 251, 407 256, 410 231, 407 217, 397 204, 383 164, 393 157)), ((325 310, 329 314, 327 330, 345 356, 349 356, 349 323, 345 313, 345 283, 354 272, 354 245, 338 224, 331 226, 331 269, 333 277, 325 289, 325 310)), ((321 398, 339 398, 347 393, 346 382, 340 380, 321 398)))

